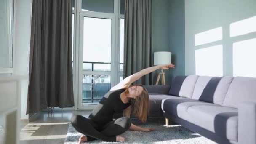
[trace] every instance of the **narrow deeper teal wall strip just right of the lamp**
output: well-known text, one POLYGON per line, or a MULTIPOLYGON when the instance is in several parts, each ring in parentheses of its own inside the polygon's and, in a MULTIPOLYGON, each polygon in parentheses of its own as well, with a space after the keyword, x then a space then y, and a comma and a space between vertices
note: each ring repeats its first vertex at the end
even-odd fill
POLYGON ((176 76, 185 75, 185 0, 170 0, 169 13, 169 43, 175 64, 169 75, 173 82, 176 76))

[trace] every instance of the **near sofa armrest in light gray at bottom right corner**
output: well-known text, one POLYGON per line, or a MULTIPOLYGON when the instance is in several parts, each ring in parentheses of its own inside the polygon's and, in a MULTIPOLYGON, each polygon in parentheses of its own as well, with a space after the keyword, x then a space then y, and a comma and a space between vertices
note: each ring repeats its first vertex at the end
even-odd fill
POLYGON ((238 105, 238 144, 256 144, 256 103, 238 105))

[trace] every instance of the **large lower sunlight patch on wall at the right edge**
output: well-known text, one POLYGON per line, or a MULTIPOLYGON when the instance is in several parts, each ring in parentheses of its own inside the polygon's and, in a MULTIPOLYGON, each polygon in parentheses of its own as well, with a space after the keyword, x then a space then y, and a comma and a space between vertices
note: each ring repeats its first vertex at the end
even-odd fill
POLYGON ((233 75, 256 77, 256 38, 233 43, 233 75))

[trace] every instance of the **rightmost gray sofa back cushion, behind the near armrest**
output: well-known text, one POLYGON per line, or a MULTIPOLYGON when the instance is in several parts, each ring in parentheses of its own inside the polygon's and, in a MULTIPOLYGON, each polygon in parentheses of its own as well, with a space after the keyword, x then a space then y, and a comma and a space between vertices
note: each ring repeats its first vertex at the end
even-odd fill
POLYGON ((235 77, 227 91, 223 105, 237 108, 242 101, 256 102, 256 78, 235 77))

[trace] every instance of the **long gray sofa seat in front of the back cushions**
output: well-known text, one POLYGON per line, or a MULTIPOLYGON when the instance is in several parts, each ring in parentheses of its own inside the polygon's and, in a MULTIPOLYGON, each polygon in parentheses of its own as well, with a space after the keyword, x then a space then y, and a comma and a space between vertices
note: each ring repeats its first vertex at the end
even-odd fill
POLYGON ((237 141, 237 109, 195 99, 163 99, 162 109, 232 141, 237 141))

